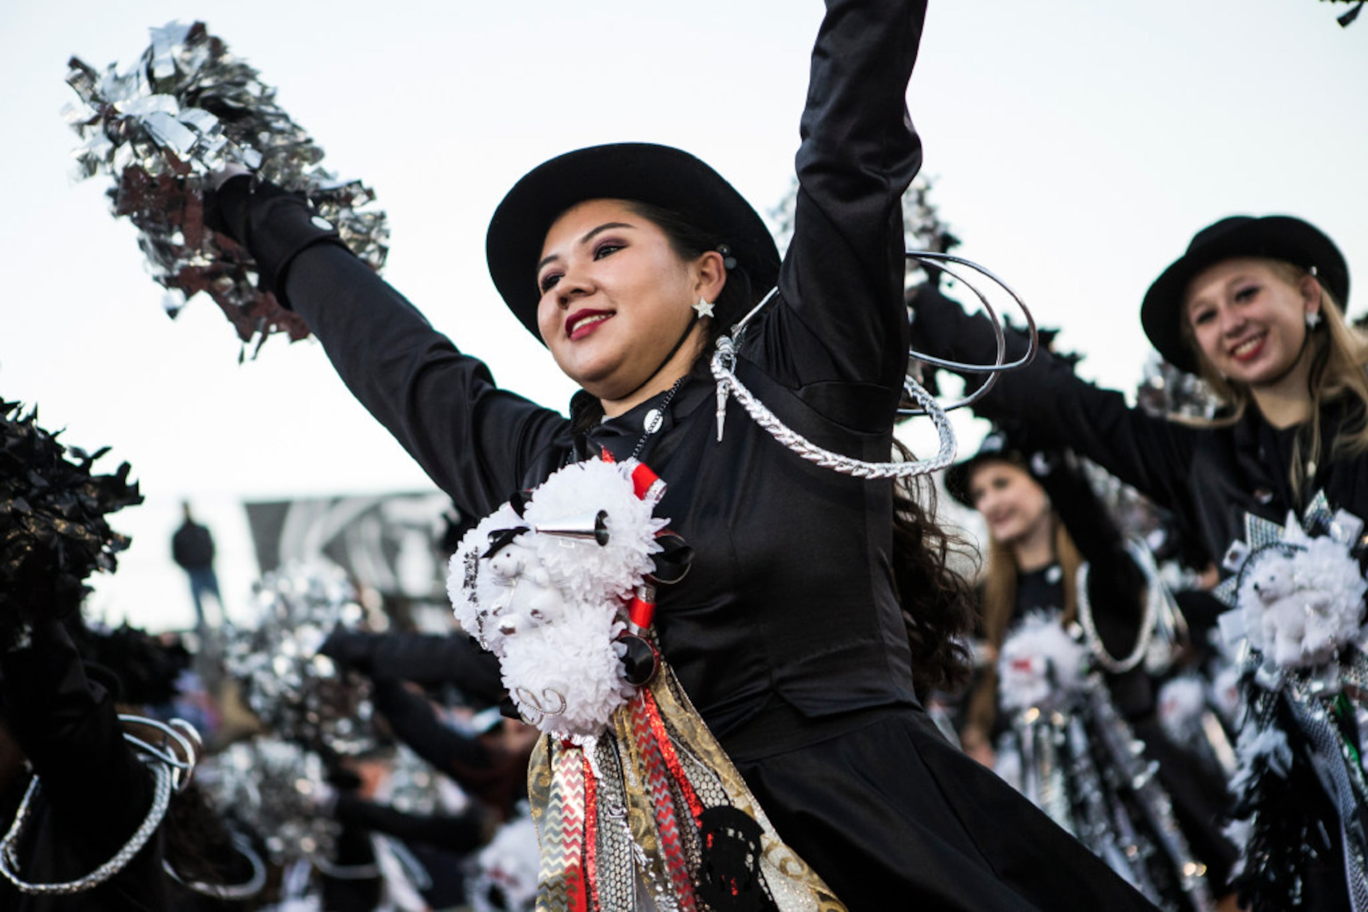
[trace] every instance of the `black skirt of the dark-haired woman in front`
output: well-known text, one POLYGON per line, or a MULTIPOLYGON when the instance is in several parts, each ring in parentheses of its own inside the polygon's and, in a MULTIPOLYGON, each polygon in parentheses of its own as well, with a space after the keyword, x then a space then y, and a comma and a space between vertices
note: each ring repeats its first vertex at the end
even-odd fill
POLYGON ((733 756, 780 837, 852 912, 1155 908, 923 711, 860 716, 800 748, 733 756))

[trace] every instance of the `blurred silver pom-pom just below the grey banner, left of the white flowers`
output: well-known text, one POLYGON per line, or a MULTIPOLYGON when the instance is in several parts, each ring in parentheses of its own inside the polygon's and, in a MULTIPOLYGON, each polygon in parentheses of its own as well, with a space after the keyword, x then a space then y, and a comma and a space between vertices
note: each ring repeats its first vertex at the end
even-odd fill
POLYGON ((268 573, 254 599, 256 628, 228 629, 224 643, 224 667, 252 711, 289 741, 343 755, 373 747, 369 682, 319 655, 334 628, 365 615, 342 570, 291 565, 268 573))

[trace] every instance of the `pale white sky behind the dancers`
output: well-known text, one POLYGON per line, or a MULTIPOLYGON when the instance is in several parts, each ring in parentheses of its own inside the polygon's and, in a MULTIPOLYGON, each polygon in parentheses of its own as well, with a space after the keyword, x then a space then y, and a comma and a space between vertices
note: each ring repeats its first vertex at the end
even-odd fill
MULTIPOLYGON (((958 253, 1062 325, 1060 345, 1089 354, 1083 376, 1126 390, 1148 351, 1145 287, 1219 217, 1305 217, 1364 282, 1368 19, 1341 29, 1345 8, 933 3, 908 103, 958 253)), ((68 179, 67 57, 126 66, 148 27, 205 21, 279 89, 328 167, 378 191, 386 278, 501 383, 564 407, 568 381, 488 280, 494 205, 547 157, 636 139, 699 155, 769 211, 792 174, 821 12, 815 0, 0 4, 0 398, 38 403, 71 444, 111 446, 107 470, 127 459, 146 495, 114 517, 134 546, 96 607, 187 623, 168 558, 182 498, 213 528, 241 608, 256 574, 244 500, 431 485, 315 343, 275 339, 238 366, 212 304, 161 313, 107 179, 68 179)), ((981 428, 958 424, 971 450, 981 428)))

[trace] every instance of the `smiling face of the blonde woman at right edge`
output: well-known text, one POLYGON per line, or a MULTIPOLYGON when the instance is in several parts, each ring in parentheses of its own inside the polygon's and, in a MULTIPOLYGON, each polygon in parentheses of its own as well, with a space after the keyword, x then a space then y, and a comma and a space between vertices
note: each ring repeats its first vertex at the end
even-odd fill
POLYGON ((1187 284, 1186 308, 1212 368, 1250 387, 1268 386, 1297 365, 1306 314, 1320 310, 1320 284, 1309 275, 1290 280, 1272 260, 1223 260, 1187 284))

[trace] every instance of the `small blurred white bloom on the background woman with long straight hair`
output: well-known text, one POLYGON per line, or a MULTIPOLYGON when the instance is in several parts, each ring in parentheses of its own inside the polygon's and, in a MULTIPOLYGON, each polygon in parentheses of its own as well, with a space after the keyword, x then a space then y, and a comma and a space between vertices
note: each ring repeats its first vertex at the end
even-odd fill
POLYGON ((1003 643, 997 693, 1010 712, 1051 708, 1083 686, 1088 647, 1042 614, 1027 615, 1003 643))

